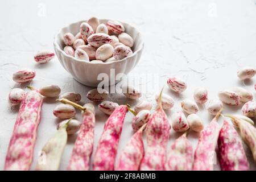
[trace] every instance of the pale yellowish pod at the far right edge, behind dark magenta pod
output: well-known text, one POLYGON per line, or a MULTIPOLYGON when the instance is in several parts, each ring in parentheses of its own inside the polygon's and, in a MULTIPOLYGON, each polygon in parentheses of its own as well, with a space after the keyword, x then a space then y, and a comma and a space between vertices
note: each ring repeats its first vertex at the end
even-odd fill
POLYGON ((256 128, 254 122, 244 115, 226 115, 232 119, 234 126, 240 131, 243 141, 250 147, 253 159, 256 162, 256 128))

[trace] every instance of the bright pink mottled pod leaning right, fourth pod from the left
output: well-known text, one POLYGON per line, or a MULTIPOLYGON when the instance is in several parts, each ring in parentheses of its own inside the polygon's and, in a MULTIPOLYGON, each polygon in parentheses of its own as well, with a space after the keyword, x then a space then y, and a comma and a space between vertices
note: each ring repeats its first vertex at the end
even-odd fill
POLYGON ((121 105, 114 110, 106 121, 93 159, 94 171, 114 170, 118 143, 127 111, 127 106, 121 105))

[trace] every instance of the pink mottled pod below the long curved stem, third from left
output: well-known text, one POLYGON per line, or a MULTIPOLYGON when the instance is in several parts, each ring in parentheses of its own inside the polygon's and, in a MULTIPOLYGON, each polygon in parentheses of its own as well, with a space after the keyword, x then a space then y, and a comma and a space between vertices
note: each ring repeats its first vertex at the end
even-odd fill
POLYGON ((83 122, 77 135, 75 146, 69 160, 68 170, 88 171, 93 152, 95 115, 91 110, 83 113, 83 122))

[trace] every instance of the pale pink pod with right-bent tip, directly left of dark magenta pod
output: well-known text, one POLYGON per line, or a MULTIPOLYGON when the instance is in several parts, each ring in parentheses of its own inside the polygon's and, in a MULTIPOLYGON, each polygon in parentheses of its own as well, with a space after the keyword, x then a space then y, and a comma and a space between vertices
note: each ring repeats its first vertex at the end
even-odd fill
POLYGON ((215 154, 218 134, 220 133, 220 125, 217 123, 217 119, 221 111, 222 109, 200 133, 195 151, 194 171, 213 171, 213 155, 215 154))

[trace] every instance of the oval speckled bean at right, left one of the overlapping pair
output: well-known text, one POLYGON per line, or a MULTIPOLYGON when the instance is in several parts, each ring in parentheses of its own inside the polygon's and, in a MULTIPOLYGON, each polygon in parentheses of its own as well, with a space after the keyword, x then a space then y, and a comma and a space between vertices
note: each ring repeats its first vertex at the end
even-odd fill
POLYGON ((224 90, 218 92, 218 98, 225 104, 229 105, 239 105, 240 104, 240 96, 236 92, 224 90))

